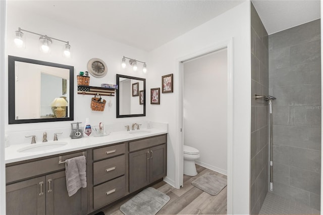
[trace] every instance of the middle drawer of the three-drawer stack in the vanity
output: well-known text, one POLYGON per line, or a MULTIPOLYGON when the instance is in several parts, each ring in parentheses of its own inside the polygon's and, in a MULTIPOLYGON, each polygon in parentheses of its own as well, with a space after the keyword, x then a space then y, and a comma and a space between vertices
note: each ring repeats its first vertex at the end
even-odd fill
POLYGON ((126 156, 101 160, 93 163, 93 184, 109 181, 126 173, 126 156))

